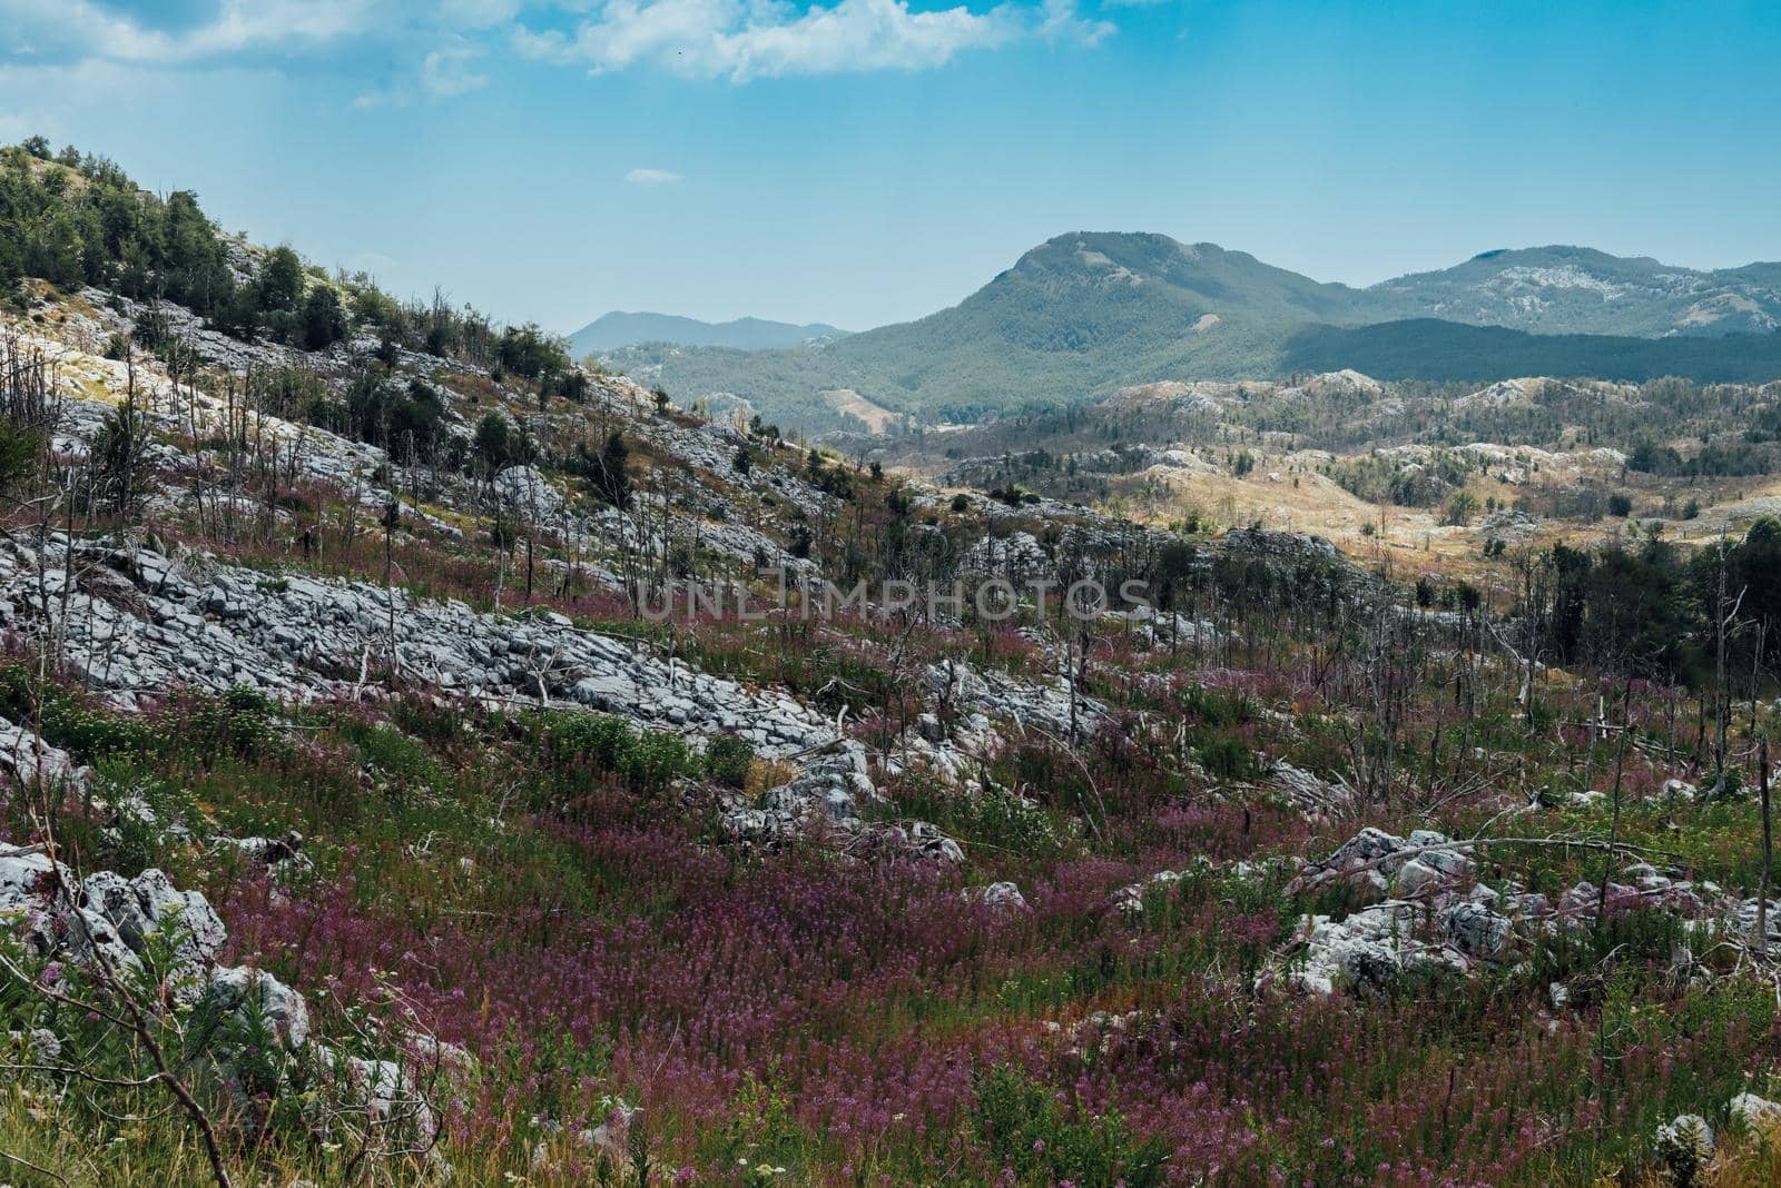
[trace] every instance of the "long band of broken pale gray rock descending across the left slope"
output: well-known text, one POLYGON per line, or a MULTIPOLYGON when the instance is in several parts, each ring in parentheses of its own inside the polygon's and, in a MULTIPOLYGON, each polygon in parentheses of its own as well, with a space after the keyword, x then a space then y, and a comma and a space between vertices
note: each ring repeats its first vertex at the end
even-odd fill
MULTIPOLYGON (((119 541, 77 541, 73 557, 59 537, 52 548, 61 550, 59 560, 77 560, 84 573, 98 574, 69 594, 66 622, 55 626, 66 633, 69 662, 121 708, 135 706, 137 690, 182 685, 224 690, 246 683, 292 701, 351 697, 362 663, 388 654, 394 642, 408 679, 484 704, 570 702, 693 736, 734 733, 753 740, 764 758, 816 754, 823 747, 858 751, 834 722, 782 692, 689 672, 629 642, 577 630, 563 615, 516 621, 472 612, 456 599, 427 601, 395 590, 392 640, 392 594, 370 583, 301 574, 272 580, 214 560, 189 562, 187 569, 203 574, 185 583, 169 580, 166 557, 119 541), (201 619, 194 614, 199 610, 216 619, 201 619), (114 640, 128 642, 128 649, 119 653, 114 640)), ((18 546, 0 544, 0 596, 32 582, 30 558, 18 546)), ((1013 679, 981 681, 978 688, 1029 722, 1056 727, 1069 720, 1069 697, 1056 688, 1013 679)), ((1101 708, 1079 699, 1078 713, 1092 724, 1101 708)), ((0 734, 0 767, 5 754, 0 734)), ((11 754, 25 751, 12 747, 11 754)), ((835 822, 855 820, 858 800, 876 795, 862 754, 835 768, 812 767, 812 777, 794 781, 793 791, 835 822), (826 779, 830 774, 841 781, 826 779)))

